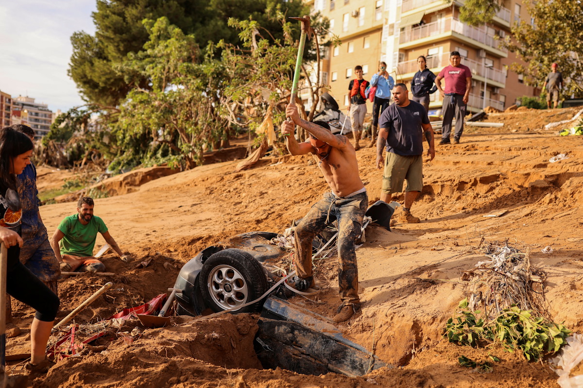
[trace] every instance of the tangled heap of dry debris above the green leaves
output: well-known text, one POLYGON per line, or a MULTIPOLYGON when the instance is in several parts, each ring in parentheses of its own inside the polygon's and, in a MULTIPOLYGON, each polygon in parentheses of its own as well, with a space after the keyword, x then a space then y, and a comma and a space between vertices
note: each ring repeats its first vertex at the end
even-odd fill
POLYGON ((534 316, 550 319, 543 287, 546 274, 532 268, 529 253, 507 242, 489 243, 484 251, 488 259, 462 275, 462 280, 472 283, 469 309, 474 311, 481 306, 486 318, 493 319, 515 305, 532 311, 534 316))

